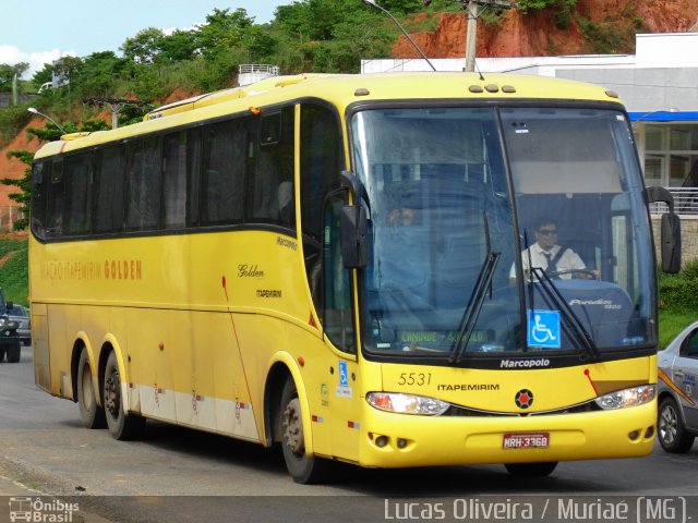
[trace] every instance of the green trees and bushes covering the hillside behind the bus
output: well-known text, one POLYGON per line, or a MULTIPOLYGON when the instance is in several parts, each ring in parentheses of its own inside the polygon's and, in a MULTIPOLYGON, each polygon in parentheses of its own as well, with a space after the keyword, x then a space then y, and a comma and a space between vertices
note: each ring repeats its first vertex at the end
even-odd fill
MULTIPOLYGON (((429 19, 414 25, 417 13, 461 12, 466 0, 378 0, 401 20, 409 31, 429 27, 429 19)), ((550 11, 558 27, 574 20, 590 41, 592 52, 627 51, 634 31, 642 22, 631 19, 618 31, 617 21, 593 23, 575 13, 577 0, 518 0, 524 13, 550 11)), ((500 13, 501 14, 501 13, 500 13)), ((488 25, 500 20, 497 10, 483 16, 488 25)), ((279 5, 269 23, 257 24, 244 9, 214 9, 205 23, 165 33, 145 27, 127 38, 117 53, 95 50, 85 57, 63 57, 47 63, 21 89, 36 93, 56 74, 67 85, 44 90, 35 105, 68 124, 94 118, 100 107, 94 100, 139 99, 160 104, 176 89, 185 93, 213 92, 236 84, 242 63, 270 63, 282 74, 301 72, 358 72, 361 59, 383 58, 399 36, 393 22, 361 0, 298 0, 279 5)), ((20 77, 28 64, 0 64, 0 92, 11 90, 12 77, 20 77)), ((136 114, 136 117, 140 114, 136 114)), ((0 145, 26 124, 26 106, 0 110, 0 145)), ((128 123, 127 118, 121 115, 128 123)))

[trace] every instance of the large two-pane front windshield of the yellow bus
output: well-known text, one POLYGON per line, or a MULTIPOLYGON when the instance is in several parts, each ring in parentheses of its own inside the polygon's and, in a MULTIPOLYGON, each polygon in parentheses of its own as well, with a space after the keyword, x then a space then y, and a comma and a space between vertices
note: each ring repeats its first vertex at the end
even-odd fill
POLYGON ((368 353, 598 356, 655 341, 622 112, 380 108, 354 113, 351 131, 370 205, 368 353))

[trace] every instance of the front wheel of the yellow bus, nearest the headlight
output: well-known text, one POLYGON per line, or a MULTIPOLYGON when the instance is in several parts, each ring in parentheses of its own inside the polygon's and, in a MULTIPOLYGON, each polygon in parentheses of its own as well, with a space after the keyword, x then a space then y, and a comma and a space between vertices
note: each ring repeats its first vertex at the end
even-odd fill
POLYGON ((291 478, 302 485, 321 482, 328 462, 305 453, 305 427, 293 378, 288 378, 284 385, 279 416, 284 461, 291 478))

